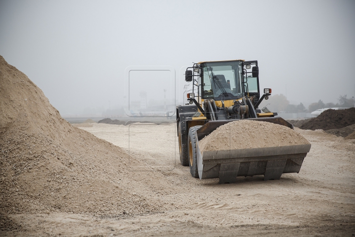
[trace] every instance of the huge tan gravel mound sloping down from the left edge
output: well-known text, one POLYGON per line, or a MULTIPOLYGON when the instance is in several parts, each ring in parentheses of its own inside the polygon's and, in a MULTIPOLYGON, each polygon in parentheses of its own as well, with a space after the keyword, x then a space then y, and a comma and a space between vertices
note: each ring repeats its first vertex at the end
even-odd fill
MULTIPOLYGON (((63 119, 43 92, 0 56, 0 216, 157 210, 160 204, 136 194, 148 188, 129 177, 127 162, 121 148, 63 119)), ((0 220, 0 229, 7 228, 4 223, 0 220)))

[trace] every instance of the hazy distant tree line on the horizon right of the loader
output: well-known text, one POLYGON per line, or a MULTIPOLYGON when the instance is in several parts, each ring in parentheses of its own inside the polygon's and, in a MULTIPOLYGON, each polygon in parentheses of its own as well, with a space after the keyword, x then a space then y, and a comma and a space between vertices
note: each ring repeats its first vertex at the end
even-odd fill
POLYGON ((339 96, 338 103, 326 103, 319 100, 318 102, 312 103, 308 106, 308 109, 302 103, 298 105, 290 104, 289 101, 283 94, 276 94, 269 97, 269 100, 263 100, 260 104, 259 108, 263 108, 267 106, 273 112, 285 112, 285 113, 311 113, 318 109, 323 108, 334 108, 334 107, 343 107, 343 108, 351 108, 355 106, 354 97, 348 98, 347 95, 339 96), (270 104, 270 105, 268 105, 270 104))

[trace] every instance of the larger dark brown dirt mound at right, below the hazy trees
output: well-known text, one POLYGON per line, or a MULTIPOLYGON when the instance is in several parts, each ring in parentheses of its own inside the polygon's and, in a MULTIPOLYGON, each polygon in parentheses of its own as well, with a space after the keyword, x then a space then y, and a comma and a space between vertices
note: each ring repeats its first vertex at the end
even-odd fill
POLYGON ((300 126, 301 129, 339 129, 355 124, 355 108, 346 110, 326 110, 300 126))

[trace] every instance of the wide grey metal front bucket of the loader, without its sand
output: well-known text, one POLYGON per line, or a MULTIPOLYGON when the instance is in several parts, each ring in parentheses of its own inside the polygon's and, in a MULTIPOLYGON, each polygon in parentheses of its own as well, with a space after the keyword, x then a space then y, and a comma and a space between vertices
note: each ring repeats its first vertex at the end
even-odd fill
MULTIPOLYGON (((293 128, 283 118, 251 118, 293 128)), ((196 131, 198 140, 231 120, 209 121, 196 131)), ((311 144, 205 151, 197 141, 197 167, 200 179, 219 178, 219 183, 234 183, 238 176, 264 175, 264 180, 280 179, 283 173, 298 173, 311 144)))

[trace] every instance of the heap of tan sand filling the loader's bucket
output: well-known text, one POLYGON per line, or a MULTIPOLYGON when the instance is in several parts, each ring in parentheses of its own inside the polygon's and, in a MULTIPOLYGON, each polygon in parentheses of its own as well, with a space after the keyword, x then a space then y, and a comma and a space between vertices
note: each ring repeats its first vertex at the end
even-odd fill
POLYGON ((253 120, 226 123, 199 141, 201 152, 302 144, 310 143, 288 127, 253 120))

